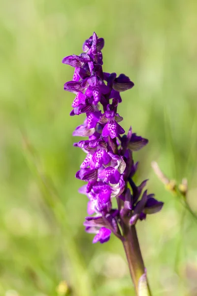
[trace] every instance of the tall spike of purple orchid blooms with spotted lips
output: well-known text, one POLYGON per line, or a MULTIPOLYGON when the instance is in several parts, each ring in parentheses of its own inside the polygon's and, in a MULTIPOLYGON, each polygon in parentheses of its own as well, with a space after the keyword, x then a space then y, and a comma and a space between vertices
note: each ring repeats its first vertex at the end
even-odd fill
POLYGON ((73 79, 64 85, 66 91, 76 95, 70 115, 86 114, 84 123, 73 135, 88 138, 74 146, 86 153, 76 178, 87 182, 79 192, 89 200, 89 216, 84 225, 87 232, 96 234, 93 243, 108 241, 111 232, 123 239, 124 225, 134 225, 163 206, 154 194, 144 191, 147 180, 138 186, 132 180, 138 165, 133 162, 132 153, 148 140, 132 133, 131 128, 123 135, 125 131, 119 124, 123 117, 117 112, 122 101, 120 93, 134 84, 124 74, 102 71, 103 46, 104 39, 94 33, 84 42, 83 53, 66 56, 62 61, 74 67, 73 79), (116 209, 112 207, 112 198, 117 200, 116 209))

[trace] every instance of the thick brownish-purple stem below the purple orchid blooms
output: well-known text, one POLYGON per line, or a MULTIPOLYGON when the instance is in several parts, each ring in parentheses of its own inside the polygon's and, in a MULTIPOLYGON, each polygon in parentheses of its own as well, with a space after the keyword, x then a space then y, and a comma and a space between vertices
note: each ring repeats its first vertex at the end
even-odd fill
POLYGON ((135 287, 135 293, 137 296, 151 296, 135 226, 129 226, 125 230, 123 246, 129 264, 131 279, 135 287))

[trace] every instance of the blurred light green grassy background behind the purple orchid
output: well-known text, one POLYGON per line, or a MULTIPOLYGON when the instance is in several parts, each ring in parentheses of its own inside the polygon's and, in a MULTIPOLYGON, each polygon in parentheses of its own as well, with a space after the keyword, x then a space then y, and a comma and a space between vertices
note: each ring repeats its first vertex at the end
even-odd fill
POLYGON ((74 178, 83 116, 69 117, 73 69, 61 61, 94 31, 104 71, 135 83, 119 113, 149 139, 134 154, 136 182, 149 178, 165 203, 137 225, 153 295, 197 295, 197 224, 151 168, 187 177, 197 211, 196 11, 194 0, 0 2, 0 296, 63 296, 61 281, 73 296, 134 295, 121 242, 93 245, 84 232, 87 198, 74 178))

